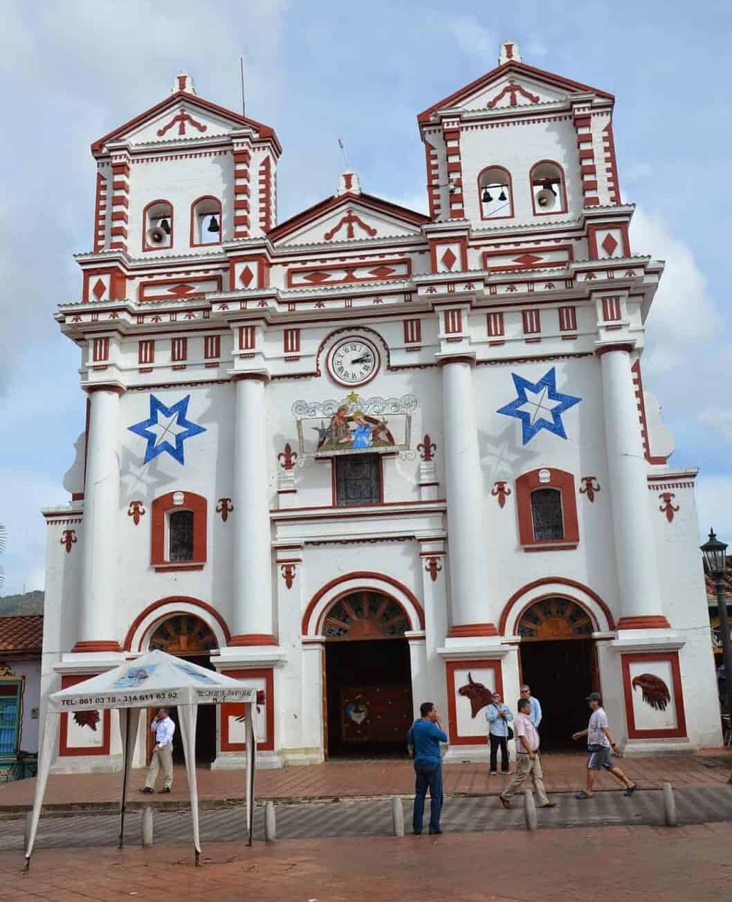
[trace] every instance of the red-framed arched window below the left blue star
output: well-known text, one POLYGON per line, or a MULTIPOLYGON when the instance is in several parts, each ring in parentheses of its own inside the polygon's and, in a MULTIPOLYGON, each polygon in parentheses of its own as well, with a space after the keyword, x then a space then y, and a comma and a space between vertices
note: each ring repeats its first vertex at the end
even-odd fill
POLYGON ((207 503, 195 492, 168 492, 152 504, 151 564, 200 570, 206 563, 207 503))

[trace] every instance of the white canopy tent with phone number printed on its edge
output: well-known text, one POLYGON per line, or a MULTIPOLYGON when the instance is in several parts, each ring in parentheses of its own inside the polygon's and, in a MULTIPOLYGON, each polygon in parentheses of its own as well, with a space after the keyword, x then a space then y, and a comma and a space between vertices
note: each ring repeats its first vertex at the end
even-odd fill
POLYGON ((193 817, 193 845, 196 864, 199 864, 199 792, 196 783, 196 721, 199 704, 244 703, 246 729, 246 827, 249 845, 252 844, 255 803, 255 724, 256 690, 239 680, 215 670, 199 667, 183 658, 175 658, 164 651, 149 651, 132 661, 106 673, 92 676, 83 683, 61 689, 49 695, 43 732, 42 750, 36 778, 35 798, 28 848, 25 850, 25 870, 31 866, 33 843, 38 830, 43 794, 46 789, 51 756, 59 735, 60 715, 90 709, 119 708, 122 733, 122 802, 120 805, 119 844, 125 833, 125 805, 130 769, 137 738, 141 708, 178 709, 181 740, 185 755, 190 790, 190 813, 193 817))

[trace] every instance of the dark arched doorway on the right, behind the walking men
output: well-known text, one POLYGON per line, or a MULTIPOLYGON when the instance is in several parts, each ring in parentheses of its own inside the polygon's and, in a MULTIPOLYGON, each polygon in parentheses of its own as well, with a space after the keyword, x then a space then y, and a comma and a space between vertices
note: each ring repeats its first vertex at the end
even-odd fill
POLYGON ((587 726, 585 697, 599 691, 597 629, 592 615, 569 598, 542 598, 519 617, 521 678, 542 704, 544 750, 576 748, 571 734, 587 726))

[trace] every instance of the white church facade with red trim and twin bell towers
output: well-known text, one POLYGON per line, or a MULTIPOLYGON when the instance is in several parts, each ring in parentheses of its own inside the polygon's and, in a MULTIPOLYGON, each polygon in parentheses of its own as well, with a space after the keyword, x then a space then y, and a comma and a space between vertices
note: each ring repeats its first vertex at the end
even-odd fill
MULTIPOLYGON (((483 758, 486 698, 522 682, 545 745, 593 690, 626 754, 719 744, 613 106, 503 44, 418 116, 429 215, 347 170, 278 223, 276 133, 188 75, 92 144, 43 693, 165 649, 255 685, 273 767, 403 750, 426 699, 447 759, 483 758)), ((204 707, 201 761, 238 767, 241 712, 204 707)), ((113 716, 64 715, 55 769, 117 767, 113 716)))

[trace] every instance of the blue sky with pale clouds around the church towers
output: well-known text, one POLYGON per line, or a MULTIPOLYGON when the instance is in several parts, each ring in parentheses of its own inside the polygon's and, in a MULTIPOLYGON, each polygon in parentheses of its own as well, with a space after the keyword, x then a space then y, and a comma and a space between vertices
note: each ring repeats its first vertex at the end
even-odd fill
POLYGON ((635 253, 666 261, 648 321, 644 382, 676 437, 672 464, 700 466, 700 526, 732 542, 732 364, 725 285, 732 138, 727 0, 606 4, 452 0, 4 0, 0 79, 0 522, 5 593, 43 586, 42 506, 83 428, 78 353, 55 305, 80 297, 71 254, 91 247, 89 143, 152 106, 183 70, 200 95, 246 112, 283 143, 280 218, 332 194, 338 137, 364 189, 423 209, 415 117, 496 65, 524 61, 616 95, 623 198, 635 253))

